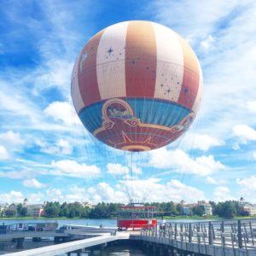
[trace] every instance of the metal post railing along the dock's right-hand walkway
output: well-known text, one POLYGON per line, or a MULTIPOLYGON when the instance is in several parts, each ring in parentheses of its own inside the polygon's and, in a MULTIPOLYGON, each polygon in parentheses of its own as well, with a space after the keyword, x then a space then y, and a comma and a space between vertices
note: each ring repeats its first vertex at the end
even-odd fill
POLYGON ((256 249, 256 219, 166 223, 160 230, 143 229, 141 236, 165 237, 174 241, 222 247, 256 249))

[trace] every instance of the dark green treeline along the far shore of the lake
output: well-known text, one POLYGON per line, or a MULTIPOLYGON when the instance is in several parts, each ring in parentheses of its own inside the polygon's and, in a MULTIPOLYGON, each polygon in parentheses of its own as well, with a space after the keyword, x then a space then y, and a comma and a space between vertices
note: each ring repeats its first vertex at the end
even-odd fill
MULTIPOLYGON (((224 201, 215 203, 209 201, 212 206, 212 214, 221 218, 233 218, 236 216, 248 216, 249 213, 239 205, 237 201, 224 201)), ((83 207, 80 203, 60 204, 59 202, 47 202, 44 206, 44 216, 48 218, 66 217, 66 218, 116 218, 121 204, 116 203, 98 203, 95 207, 83 207)), ((183 205, 170 202, 146 203, 145 206, 157 207, 157 216, 176 217, 183 215, 183 205)), ((8 217, 8 211, 5 216, 8 217)), ((25 217, 27 215, 26 207, 21 204, 17 207, 17 215, 25 217)), ((204 216, 203 207, 195 206, 191 208, 193 216, 204 216)))

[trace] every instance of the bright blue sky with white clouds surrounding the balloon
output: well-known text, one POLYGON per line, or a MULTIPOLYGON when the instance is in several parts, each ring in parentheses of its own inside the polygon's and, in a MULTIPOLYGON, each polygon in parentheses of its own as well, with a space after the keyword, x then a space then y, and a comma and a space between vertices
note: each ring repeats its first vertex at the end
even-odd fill
POLYGON ((0 203, 256 203, 255 17, 253 0, 0 1, 0 203), (132 155, 85 131, 70 96, 84 44, 125 20, 179 33, 204 77, 186 135, 132 155))

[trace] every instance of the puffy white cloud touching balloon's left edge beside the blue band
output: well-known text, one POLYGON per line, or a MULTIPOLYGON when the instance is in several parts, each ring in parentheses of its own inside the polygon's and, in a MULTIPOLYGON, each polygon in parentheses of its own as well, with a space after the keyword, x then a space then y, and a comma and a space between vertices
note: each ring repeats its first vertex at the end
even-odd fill
POLYGON ((81 124, 77 113, 69 102, 52 102, 44 109, 44 113, 55 121, 61 121, 64 125, 81 124))

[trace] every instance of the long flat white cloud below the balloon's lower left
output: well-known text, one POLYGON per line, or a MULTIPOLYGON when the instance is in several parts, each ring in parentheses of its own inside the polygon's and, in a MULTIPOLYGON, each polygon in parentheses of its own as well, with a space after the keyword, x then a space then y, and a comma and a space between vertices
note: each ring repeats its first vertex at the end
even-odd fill
POLYGON ((75 160, 52 161, 51 167, 53 170, 46 172, 45 174, 80 177, 85 179, 96 177, 101 174, 99 167, 95 165, 87 166, 85 164, 79 164, 75 160))

